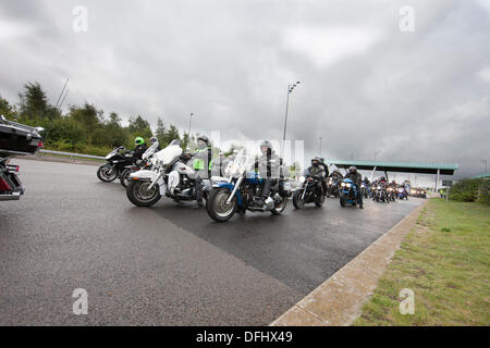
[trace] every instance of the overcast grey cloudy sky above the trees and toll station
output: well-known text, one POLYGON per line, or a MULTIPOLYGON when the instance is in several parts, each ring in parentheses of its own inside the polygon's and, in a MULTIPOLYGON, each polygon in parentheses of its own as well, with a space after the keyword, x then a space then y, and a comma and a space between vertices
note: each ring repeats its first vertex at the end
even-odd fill
POLYGON ((193 112, 193 133, 281 139, 301 80, 286 137, 306 157, 321 136, 326 158, 475 175, 490 158, 489 42, 486 0, 0 0, 0 95, 16 102, 36 80, 56 103, 69 77, 65 107, 181 129, 193 112))

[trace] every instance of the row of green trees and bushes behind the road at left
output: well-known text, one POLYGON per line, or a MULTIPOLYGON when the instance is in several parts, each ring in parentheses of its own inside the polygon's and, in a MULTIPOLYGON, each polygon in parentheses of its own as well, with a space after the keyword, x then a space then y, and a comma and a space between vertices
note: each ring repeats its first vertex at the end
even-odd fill
POLYGON ((149 122, 140 115, 131 116, 127 126, 123 126, 120 114, 106 114, 87 101, 82 105, 70 105, 69 112, 63 114, 49 102, 39 83, 25 84, 19 92, 17 103, 0 96, 0 114, 14 122, 44 127, 45 148, 59 151, 105 156, 114 147, 134 147, 137 136, 145 141, 156 136, 162 148, 173 139, 180 139, 184 149, 194 142, 194 137, 188 141, 187 133, 181 135, 175 125, 167 126, 161 117, 158 117, 155 133, 149 122))

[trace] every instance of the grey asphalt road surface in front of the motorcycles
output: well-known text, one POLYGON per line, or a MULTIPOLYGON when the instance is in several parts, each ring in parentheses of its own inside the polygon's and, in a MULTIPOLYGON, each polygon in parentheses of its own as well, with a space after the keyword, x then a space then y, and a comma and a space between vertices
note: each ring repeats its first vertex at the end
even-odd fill
POLYGON ((0 325, 267 325, 421 202, 218 224, 166 199, 134 207, 93 165, 13 163, 26 194, 0 202, 0 325))

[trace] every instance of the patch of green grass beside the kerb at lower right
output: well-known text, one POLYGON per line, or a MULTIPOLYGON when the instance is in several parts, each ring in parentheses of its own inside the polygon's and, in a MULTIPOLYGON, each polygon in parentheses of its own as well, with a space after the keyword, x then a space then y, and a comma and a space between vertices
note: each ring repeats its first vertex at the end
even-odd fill
POLYGON ((431 199, 354 325, 490 325, 489 275, 490 207, 431 199))

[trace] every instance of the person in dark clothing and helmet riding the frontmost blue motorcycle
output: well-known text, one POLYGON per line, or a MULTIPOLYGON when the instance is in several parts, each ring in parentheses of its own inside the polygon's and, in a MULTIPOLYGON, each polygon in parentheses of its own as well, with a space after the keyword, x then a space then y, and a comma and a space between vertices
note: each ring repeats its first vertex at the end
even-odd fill
POLYGON ((270 204, 273 200, 269 197, 271 179, 279 179, 280 163, 279 156, 272 150, 272 144, 269 140, 260 142, 261 156, 254 163, 260 177, 262 178, 262 197, 257 203, 259 206, 270 204))

